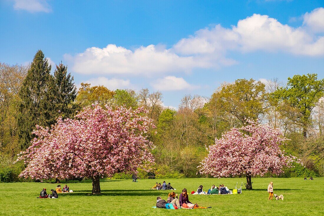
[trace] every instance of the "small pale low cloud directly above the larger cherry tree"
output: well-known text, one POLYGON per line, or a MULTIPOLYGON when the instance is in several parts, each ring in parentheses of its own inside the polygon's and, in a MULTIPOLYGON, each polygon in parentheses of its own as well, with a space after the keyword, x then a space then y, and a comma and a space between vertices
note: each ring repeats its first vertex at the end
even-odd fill
POLYGON ((110 90, 127 89, 131 87, 129 79, 108 79, 106 77, 91 78, 87 81, 84 81, 84 83, 90 83, 91 86, 105 86, 110 90))

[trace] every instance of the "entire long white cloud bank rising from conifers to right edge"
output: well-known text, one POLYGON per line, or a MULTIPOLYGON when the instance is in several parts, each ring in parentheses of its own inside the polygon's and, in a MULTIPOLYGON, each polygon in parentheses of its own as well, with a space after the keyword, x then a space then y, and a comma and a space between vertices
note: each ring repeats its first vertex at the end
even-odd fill
POLYGON ((156 76, 237 64, 227 57, 229 52, 323 56, 324 36, 318 35, 324 31, 323 11, 323 8, 317 8, 306 13, 303 25, 298 28, 267 15, 253 14, 231 28, 218 24, 198 30, 169 49, 151 44, 129 50, 108 44, 104 48, 87 48, 75 55, 65 54, 64 58, 73 71, 81 74, 156 76))

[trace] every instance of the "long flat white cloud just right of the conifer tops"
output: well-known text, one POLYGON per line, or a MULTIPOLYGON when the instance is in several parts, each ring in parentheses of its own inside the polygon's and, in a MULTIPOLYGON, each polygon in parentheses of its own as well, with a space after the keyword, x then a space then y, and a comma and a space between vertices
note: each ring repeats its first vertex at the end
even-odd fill
POLYGON ((145 74, 163 72, 188 72, 193 67, 204 67, 193 56, 179 56, 155 45, 142 46, 135 51, 115 44, 105 48, 91 47, 83 53, 64 55, 72 62, 72 69, 81 74, 145 74))

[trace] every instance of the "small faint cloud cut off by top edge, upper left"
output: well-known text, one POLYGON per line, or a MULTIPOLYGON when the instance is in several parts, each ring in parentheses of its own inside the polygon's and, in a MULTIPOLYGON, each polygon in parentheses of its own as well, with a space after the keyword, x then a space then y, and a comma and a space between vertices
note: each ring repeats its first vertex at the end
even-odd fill
POLYGON ((46 0, 13 0, 15 10, 27 10, 28 12, 46 12, 52 11, 46 0))

